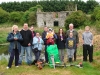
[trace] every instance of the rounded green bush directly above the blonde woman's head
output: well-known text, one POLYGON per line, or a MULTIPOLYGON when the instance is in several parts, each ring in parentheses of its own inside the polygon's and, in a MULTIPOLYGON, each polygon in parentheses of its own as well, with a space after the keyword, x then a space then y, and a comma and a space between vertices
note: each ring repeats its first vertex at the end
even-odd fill
POLYGON ((22 18, 22 13, 20 12, 11 12, 10 13, 10 22, 19 23, 22 18))

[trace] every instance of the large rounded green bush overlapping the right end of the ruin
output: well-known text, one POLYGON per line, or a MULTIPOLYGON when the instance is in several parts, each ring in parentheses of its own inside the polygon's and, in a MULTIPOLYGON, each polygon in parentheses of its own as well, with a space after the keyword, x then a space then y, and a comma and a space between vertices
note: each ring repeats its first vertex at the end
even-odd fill
POLYGON ((74 27, 78 28, 84 25, 86 21, 86 14, 82 11, 72 12, 65 20, 65 27, 68 29, 70 23, 74 24, 74 27))

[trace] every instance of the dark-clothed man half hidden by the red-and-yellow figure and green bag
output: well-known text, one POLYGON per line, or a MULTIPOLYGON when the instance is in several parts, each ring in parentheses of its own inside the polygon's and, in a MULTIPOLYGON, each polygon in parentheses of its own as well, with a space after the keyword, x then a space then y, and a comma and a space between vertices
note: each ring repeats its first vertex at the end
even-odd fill
POLYGON ((47 34, 47 32, 48 32, 48 27, 45 26, 44 31, 42 33, 42 39, 43 39, 44 45, 45 45, 45 62, 46 63, 48 63, 48 54, 47 54, 47 51, 46 51, 46 49, 47 49, 47 44, 46 44, 46 34, 47 34))

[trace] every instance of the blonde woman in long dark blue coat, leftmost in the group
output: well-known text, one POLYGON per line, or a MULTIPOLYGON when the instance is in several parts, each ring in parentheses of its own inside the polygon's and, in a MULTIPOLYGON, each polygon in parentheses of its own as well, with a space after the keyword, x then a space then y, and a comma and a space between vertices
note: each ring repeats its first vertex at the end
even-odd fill
POLYGON ((13 25, 12 32, 10 32, 7 37, 7 41, 10 42, 10 46, 9 46, 10 59, 9 59, 7 69, 11 68, 12 62, 14 60, 14 56, 15 56, 15 66, 18 67, 19 52, 21 48, 20 41, 22 40, 23 40, 22 36, 18 31, 18 26, 13 25))

